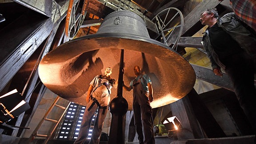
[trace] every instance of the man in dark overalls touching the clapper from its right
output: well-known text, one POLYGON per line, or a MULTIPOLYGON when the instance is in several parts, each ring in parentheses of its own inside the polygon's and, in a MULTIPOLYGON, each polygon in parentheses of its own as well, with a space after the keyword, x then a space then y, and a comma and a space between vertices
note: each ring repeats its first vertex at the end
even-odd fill
POLYGON ((150 103, 154 100, 151 80, 147 74, 142 75, 139 66, 134 67, 136 78, 124 90, 133 90, 133 116, 140 144, 155 144, 153 132, 152 108, 150 103))

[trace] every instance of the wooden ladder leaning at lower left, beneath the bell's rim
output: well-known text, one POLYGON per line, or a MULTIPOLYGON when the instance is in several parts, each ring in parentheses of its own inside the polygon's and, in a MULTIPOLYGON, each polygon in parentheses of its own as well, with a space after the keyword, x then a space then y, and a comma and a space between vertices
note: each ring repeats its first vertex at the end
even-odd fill
POLYGON ((31 136, 29 137, 29 140, 34 140, 36 137, 45 137, 44 143, 43 144, 47 144, 48 140, 50 139, 50 137, 52 136, 52 133, 54 132, 54 130, 56 129, 56 127, 58 126, 58 124, 60 123, 60 120, 62 119, 62 117, 64 116, 65 112, 67 111, 69 105, 71 102, 68 103, 67 107, 63 107, 60 106, 58 104, 56 104, 58 102, 58 100, 60 99, 60 96, 57 96, 56 99, 54 100, 54 102, 52 103, 52 105, 50 106, 50 108, 48 109, 48 111, 44 114, 44 117, 42 118, 42 120, 40 120, 39 124, 37 125, 37 127, 35 128, 35 130, 32 132, 31 136), (52 119, 48 119, 48 115, 50 114, 50 112, 52 112, 52 109, 54 107, 58 107, 61 109, 64 109, 63 114, 60 116, 59 120, 52 120, 52 119), (43 135, 43 134, 38 134, 38 130, 41 128, 42 124, 44 123, 44 121, 50 121, 55 123, 55 126, 52 128, 52 130, 50 130, 50 132, 48 132, 47 135, 43 135))

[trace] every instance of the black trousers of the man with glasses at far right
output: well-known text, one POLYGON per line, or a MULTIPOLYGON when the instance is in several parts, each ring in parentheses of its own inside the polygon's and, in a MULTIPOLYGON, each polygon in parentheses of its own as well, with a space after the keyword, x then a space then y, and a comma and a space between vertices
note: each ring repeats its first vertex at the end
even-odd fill
POLYGON ((240 107, 244 110, 252 129, 256 133, 256 88, 254 86, 253 58, 246 52, 230 56, 224 60, 225 72, 230 77, 240 107))

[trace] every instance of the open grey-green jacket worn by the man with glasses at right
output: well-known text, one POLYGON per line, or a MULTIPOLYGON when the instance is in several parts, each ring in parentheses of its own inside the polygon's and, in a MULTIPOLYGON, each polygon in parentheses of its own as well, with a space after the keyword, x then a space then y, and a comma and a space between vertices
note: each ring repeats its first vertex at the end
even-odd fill
MULTIPOLYGON (((248 52, 249 55, 255 57, 256 38, 239 22, 234 12, 225 14, 218 20, 217 24, 236 40, 240 47, 248 52)), ((212 63, 212 69, 220 67, 225 69, 225 65, 220 62, 218 55, 210 43, 208 34, 208 29, 206 29, 203 36, 203 46, 212 63)))

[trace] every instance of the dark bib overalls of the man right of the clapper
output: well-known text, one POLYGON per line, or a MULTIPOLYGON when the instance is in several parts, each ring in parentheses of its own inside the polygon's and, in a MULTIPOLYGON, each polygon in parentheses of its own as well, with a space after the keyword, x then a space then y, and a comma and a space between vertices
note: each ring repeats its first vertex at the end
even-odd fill
POLYGON ((140 79, 133 82, 133 116, 140 144, 155 144, 152 108, 140 79), (144 141, 143 141, 144 138, 144 141))

